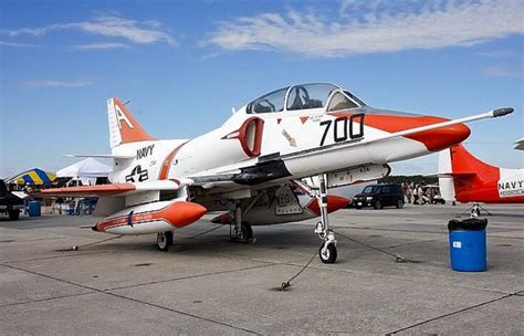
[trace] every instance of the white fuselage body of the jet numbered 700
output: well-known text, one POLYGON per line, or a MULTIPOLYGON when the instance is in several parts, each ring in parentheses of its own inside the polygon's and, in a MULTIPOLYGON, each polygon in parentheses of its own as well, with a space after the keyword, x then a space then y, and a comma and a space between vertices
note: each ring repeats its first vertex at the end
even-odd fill
MULTIPOLYGON (((118 150, 116 154, 133 155, 134 158, 115 160, 114 171, 109 178, 112 182, 137 182, 235 172, 240 167, 254 165, 260 157, 276 154, 283 157, 285 167, 293 178, 303 178, 359 165, 380 165, 428 154, 423 143, 398 137, 358 148, 336 148, 308 155, 308 150, 328 148, 335 144, 335 136, 338 139, 349 138, 347 135, 349 127, 353 129, 360 127, 359 119, 354 120, 353 126, 349 126, 348 122, 335 122, 336 119, 337 117, 325 113, 322 108, 250 115, 243 107, 221 127, 192 140, 150 140, 120 145, 116 148, 118 150), (249 124, 253 118, 263 122, 260 138, 255 139, 254 133, 259 125, 253 120, 251 120, 253 125, 247 127, 252 129, 245 132, 244 139, 235 137, 242 125, 249 124), (326 130, 326 124, 323 123, 329 120, 332 125, 326 130), (335 127, 335 123, 345 129, 335 127), (242 147, 244 141, 252 148, 255 140, 260 141, 260 155, 256 156, 250 155, 249 150, 247 153, 242 147)), ((356 137, 355 141, 373 140, 388 135, 386 130, 367 125, 363 127, 361 137, 356 137)))

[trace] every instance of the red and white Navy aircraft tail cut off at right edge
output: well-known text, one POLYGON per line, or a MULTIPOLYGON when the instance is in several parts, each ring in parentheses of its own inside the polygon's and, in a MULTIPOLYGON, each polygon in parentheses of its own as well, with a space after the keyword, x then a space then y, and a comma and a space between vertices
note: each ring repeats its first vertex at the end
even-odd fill
POLYGON ((439 186, 446 200, 524 202, 524 169, 493 167, 475 158, 463 145, 439 154, 439 186))

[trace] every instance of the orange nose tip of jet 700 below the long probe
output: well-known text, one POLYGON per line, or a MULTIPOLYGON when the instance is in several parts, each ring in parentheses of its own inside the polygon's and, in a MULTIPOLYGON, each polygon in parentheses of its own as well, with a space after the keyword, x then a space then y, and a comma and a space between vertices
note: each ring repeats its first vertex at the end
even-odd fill
POLYGON ((470 136, 470 128, 464 124, 457 124, 432 130, 426 130, 408 136, 426 145, 430 151, 439 151, 460 144, 470 136))

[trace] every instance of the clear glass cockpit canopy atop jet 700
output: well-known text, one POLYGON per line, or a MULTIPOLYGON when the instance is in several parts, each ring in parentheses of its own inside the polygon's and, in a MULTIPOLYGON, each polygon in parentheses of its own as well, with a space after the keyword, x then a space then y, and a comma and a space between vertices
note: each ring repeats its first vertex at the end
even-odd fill
POLYGON ((275 113, 324 108, 327 112, 366 106, 348 91, 333 84, 312 83, 284 87, 254 99, 247 113, 275 113))

